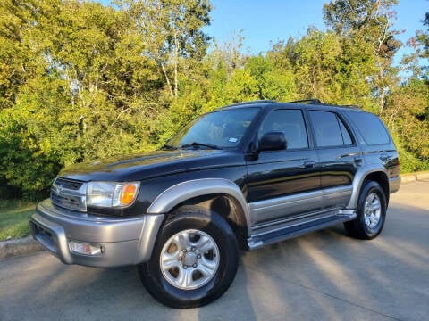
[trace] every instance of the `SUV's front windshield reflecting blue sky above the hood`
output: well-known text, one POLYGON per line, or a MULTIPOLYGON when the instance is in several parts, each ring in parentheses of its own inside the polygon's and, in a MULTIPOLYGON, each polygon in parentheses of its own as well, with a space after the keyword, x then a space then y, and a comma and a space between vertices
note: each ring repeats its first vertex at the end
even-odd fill
POLYGON ((236 147, 258 108, 214 111, 192 121, 167 143, 172 147, 236 147))

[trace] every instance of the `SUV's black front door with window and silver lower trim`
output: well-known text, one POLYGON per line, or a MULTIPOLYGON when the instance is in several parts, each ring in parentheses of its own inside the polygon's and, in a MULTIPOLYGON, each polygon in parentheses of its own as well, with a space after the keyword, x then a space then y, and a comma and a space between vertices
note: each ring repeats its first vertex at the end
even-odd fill
POLYGON ((270 131, 282 131, 287 148, 259 152, 248 161, 247 201, 254 224, 277 220, 320 207, 317 153, 308 140, 301 109, 269 112, 258 129, 258 139, 270 131))

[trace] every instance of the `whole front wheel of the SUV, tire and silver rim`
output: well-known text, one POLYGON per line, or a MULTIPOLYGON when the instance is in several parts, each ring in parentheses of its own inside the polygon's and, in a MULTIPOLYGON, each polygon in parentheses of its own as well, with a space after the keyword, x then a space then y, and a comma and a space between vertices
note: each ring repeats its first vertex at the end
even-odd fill
POLYGON ((218 214, 183 207, 158 235, 152 257, 139 265, 141 282, 166 306, 188 309, 219 298, 231 285, 239 248, 231 226, 218 214))

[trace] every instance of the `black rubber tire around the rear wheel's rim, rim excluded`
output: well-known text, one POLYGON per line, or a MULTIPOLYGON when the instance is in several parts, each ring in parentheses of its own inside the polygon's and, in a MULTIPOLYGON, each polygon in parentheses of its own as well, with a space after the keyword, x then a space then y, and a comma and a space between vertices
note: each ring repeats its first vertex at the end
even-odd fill
POLYGON ((373 239, 374 237, 379 235, 383 230, 384 221, 386 218, 386 197, 383 193, 382 187, 378 183, 369 181, 364 185, 362 189, 362 193, 360 194, 360 197, 359 197, 357 210, 358 210, 360 229, 362 230, 366 238, 373 239), (380 206, 381 206, 380 220, 374 228, 370 228, 366 226, 366 223, 365 223, 365 201, 370 193, 377 194, 380 200, 380 206))

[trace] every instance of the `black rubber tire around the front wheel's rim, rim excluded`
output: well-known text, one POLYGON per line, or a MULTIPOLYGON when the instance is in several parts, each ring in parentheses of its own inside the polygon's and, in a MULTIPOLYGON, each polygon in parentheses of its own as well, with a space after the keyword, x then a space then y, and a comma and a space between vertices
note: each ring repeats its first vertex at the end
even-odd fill
POLYGON ((205 305, 225 292, 233 281, 238 267, 238 245, 231 227, 213 212, 184 213, 165 224, 156 240, 152 258, 142 265, 140 276, 147 291, 154 298, 173 308, 191 308, 205 305), (210 235, 217 244, 219 267, 214 277, 194 290, 182 290, 170 284, 160 268, 160 255, 164 244, 183 230, 197 229, 210 235))

